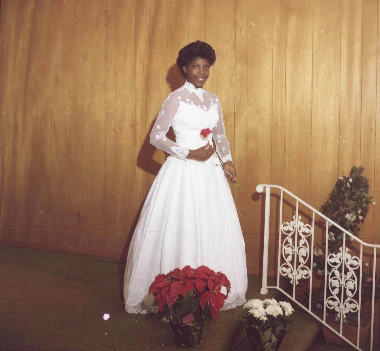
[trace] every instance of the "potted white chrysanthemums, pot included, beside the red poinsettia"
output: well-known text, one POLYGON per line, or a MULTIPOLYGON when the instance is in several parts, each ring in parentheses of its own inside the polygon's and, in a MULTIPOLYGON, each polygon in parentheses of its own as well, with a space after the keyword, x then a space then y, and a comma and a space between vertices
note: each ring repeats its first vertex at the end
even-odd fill
POLYGON ((253 299, 244 305, 245 337, 253 350, 277 350, 287 332, 286 317, 293 313, 289 302, 253 299))

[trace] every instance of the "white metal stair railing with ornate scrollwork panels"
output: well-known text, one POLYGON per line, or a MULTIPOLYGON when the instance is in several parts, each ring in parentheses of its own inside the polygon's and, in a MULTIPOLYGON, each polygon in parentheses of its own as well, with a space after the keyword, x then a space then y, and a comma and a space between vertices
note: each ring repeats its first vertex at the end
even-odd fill
POLYGON ((317 318, 318 321, 323 323, 327 328, 329 328, 332 332, 339 335, 343 340, 345 340, 348 344, 353 346, 354 348, 361 350, 359 348, 360 335, 359 335, 359 326, 360 326, 360 305, 361 305, 361 290, 362 290, 362 267, 363 267, 363 246, 371 247, 373 249, 373 277, 372 277, 372 313, 371 313, 371 339, 370 339, 370 350, 372 351, 373 347, 373 333, 374 333, 374 307, 375 307, 375 277, 376 277, 376 254, 377 249, 380 250, 380 245, 367 244, 361 239, 357 238, 355 235, 352 235, 350 232, 342 228, 337 223, 333 222, 331 219, 326 217, 324 214, 319 212, 317 209, 313 208, 305 201, 298 198, 296 195, 292 194, 287 189, 272 184, 259 184, 256 187, 257 192, 262 193, 265 189, 265 222, 264 222, 264 253, 263 253, 263 280, 262 287, 260 290, 261 294, 268 293, 268 288, 275 288, 280 290, 283 294, 285 294, 288 298, 290 298, 293 302, 298 304, 302 309, 308 312, 313 317, 317 318), (279 214, 279 254, 278 254, 278 262, 277 262, 277 286, 268 286, 268 252, 269 252, 269 219, 270 219, 270 203, 271 203, 271 188, 280 190, 280 214, 279 214), (296 200, 296 214, 293 216, 293 221, 291 222, 282 222, 283 215, 283 194, 284 192, 290 195, 294 200, 296 200), (304 224, 301 222, 301 216, 299 216, 299 203, 302 203, 308 209, 312 211, 312 224, 304 224), (326 221, 326 242, 325 242, 325 295, 324 295, 324 304, 323 304, 323 319, 319 316, 315 315, 312 312, 312 277, 313 277, 313 247, 314 247, 314 224, 315 224, 315 214, 325 219, 326 221), (336 255, 328 255, 328 241, 329 241, 329 227, 334 226, 342 231, 343 233, 343 247, 340 248, 340 252, 336 255), (282 233, 285 234, 284 228, 286 230, 292 230, 290 235, 287 235, 282 241, 282 233), (291 236, 294 237, 291 238, 291 236), (355 240, 360 244, 360 257, 351 256, 348 253, 348 248, 346 248, 346 237, 351 240, 355 240), (310 250, 311 248, 311 250, 310 250), (282 257, 286 261, 283 264, 281 263, 281 251, 283 252, 282 257), (288 257, 285 257, 285 252, 291 253, 288 257), (297 255, 299 257, 297 257, 297 255), (290 257, 290 259, 288 259, 290 257), (306 258, 304 258, 306 257, 306 258), (300 261, 300 264, 297 266, 297 258, 300 261), (310 258, 310 260, 309 260, 310 258), (291 264, 292 263, 292 264, 291 264), (334 263, 336 265, 334 266, 334 263), (310 264, 310 268, 308 266, 310 264), (328 264, 329 268, 332 269, 331 273, 334 274, 328 275, 328 264), (339 272, 337 268, 342 265, 342 273, 339 278, 339 272), (351 266, 354 266, 352 268, 351 266), (335 267, 335 268, 331 268, 335 267), (345 275, 345 267, 348 269, 347 274, 345 275), (359 274, 359 286, 356 281, 356 275, 353 273, 353 269, 360 269, 359 274), (282 288, 280 288, 280 275, 287 275, 290 277, 290 282, 293 284, 293 294, 290 295, 282 288), (332 278, 331 278, 332 276, 332 278), (355 279, 351 279, 351 277, 355 277, 355 279), (296 285, 298 284, 298 280, 300 279, 309 279, 309 308, 306 308, 303 304, 295 298, 296 285), (329 280, 329 289, 332 296, 326 298, 327 292, 327 282, 329 280), (340 299, 337 294, 339 292, 339 288, 335 288, 331 291, 331 286, 340 287, 340 299), (348 285, 348 286, 346 286, 348 285), (356 291, 359 289, 359 297, 358 301, 354 299, 348 299, 347 302, 344 301, 344 289, 346 289, 347 294, 351 294, 352 297, 355 295, 356 291), (351 290, 355 292, 352 294, 351 290), (329 324, 326 323, 326 307, 329 309, 339 310, 340 316, 340 332, 334 330, 329 324), (343 331, 343 320, 345 317, 345 313, 347 312, 358 312, 358 333, 357 333, 357 342, 356 345, 348 340, 342 333, 343 331))

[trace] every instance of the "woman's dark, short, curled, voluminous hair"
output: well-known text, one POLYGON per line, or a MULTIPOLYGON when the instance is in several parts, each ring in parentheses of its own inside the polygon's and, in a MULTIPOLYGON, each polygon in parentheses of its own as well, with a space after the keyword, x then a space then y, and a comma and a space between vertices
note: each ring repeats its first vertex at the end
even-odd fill
POLYGON ((210 66, 212 66, 216 60, 215 50, 207 42, 199 40, 182 47, 177 57, 177 66, 182 74, 184 73, 182 70, 183 66, 187 66, 196 57, 205 58, 209 61, 210 66))

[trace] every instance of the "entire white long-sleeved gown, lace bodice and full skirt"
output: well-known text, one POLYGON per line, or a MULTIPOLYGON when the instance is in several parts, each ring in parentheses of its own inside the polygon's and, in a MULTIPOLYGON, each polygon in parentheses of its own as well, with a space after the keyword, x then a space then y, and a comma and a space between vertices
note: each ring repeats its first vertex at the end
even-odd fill
POLYGON ((185 158, 189 149, 206 144, 200 135, 204 128, 212 130, 223 162, 232 161, 217 96, 186 82, 165 100, 150 134, 150 142, 171 156, 149 190, 129 247, 124 275, 128 313, 156 312, 154 297, 148 296, 155 276, 187 265, 205 265, 227 276, 231 293, 223 309, 245 302, 244 239, 220 162, 216 156, 204 162, 185 158), (166 137, 170 126, 176 142, 166 137))

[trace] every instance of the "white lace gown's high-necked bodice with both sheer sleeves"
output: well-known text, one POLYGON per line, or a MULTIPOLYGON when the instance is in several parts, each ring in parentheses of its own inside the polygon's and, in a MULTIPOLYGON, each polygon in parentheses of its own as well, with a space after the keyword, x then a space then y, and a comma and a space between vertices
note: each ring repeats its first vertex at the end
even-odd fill
MULTIPOLYGON (((212 130, 222 160, 232 161, 219 99, 214 94, 185 82, 163 103, 150 133, 150 143, 173 156, 185 159, 188 150, 196 150, 205 145, 200 135, 204 128, 212 130), (170 126, 176 134, 176 142, 166 137, 170 126)), ((212 142, 211 136, 209 142, 212 142)))

